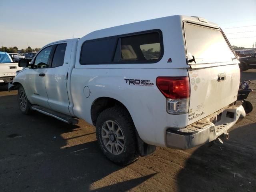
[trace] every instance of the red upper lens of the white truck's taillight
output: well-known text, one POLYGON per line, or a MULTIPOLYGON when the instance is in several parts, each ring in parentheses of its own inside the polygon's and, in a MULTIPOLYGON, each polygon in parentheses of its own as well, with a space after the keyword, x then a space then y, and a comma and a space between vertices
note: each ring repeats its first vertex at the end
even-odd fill
POLYGON ((169 99, 184 99, 190 96, 190 85, 186 77, 158 77, 156 86, 169 99))

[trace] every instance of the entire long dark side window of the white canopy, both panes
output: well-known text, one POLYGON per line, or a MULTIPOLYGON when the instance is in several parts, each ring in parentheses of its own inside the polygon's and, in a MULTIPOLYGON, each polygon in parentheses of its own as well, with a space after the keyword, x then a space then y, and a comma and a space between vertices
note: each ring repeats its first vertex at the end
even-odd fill
POLYGON ((158 62, 163 54, 161 35, 160 32, 141 32, 86 41, 82 45, 80 64, 158 62))

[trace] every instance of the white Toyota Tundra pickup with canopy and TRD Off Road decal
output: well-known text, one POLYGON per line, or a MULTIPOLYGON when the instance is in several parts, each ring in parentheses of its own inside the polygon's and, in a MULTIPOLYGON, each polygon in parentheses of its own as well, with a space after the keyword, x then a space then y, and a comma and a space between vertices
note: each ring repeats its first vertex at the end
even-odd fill
POLYGON ((128 164, 156 146, 187 149, 228 138, 245 116, 238 59, 218 25, 168 16, 44 46, 9 90, 24 114, 96 126, 104 154, 128 164), (218 56, 215 54, 218 51, 218 56))

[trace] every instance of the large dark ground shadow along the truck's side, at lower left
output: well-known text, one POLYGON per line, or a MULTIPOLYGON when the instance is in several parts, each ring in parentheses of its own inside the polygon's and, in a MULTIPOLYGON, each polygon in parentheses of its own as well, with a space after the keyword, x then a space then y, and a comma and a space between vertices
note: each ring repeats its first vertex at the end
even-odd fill
MULTIPOLYGON (((22 115, 14 102, 16 95, 2 96, 0 101, 4 102, 0 105, 0 191, 88 191, 94 182, 122 169, 105 158, 95 139, 79 142, 81 136, 74 132, 82 130, 80 126, 38 112, 22 115), (64 147, 72 138, 64 139, 63 134, 76 138, 71 147, 64 147)), ((95 132, 94 128, 84 130, 84 135, 95 132)), ((106 184, 94 191, 130 190, 152 176, 106 184)))

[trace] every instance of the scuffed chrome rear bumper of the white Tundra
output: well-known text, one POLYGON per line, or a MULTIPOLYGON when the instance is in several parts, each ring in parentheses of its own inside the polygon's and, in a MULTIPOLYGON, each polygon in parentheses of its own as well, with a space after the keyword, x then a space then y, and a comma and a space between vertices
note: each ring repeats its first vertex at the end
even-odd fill
POLYGON ((245 111, 242 106, 226 106, 183 129, 167 129, 166 145, 170 148, 188 149, 211 142, 244 117, 245 111))

